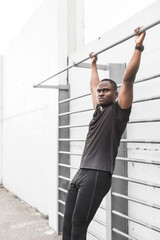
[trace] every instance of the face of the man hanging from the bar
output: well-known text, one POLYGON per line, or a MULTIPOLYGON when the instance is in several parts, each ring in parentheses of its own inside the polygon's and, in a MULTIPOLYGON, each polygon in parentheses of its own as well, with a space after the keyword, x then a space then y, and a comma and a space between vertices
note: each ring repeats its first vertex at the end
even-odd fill
POLYGON ((100 82, 97 87, 97 100, 101 107, 113 104, 118 96, 109 81, 100 82))

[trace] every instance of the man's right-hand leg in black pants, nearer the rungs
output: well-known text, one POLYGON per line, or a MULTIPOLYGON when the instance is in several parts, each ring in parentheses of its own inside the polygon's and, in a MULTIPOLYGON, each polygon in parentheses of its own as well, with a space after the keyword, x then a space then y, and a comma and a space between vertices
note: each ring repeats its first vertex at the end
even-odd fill
POLYGON ((109 172, 84 170, 72 217, 71 240, 86 240, 87 228, 111 185, 109 172))

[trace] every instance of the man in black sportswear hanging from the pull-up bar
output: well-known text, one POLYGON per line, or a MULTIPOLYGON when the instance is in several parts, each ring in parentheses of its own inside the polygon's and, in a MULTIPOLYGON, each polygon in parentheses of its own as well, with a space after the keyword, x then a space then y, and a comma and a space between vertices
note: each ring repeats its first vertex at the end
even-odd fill
MULTIPOLYGON (((139 30, 140 27, 135 34, 139 30)), ((145 32, 135 37, 136 47, 124 74, 118 101, 116 83, 110 79, 99 81, 97 56, 91 57, 90 89, 96 110, 89 124, 80 169, 68 189, 63 240, 86 240, 89 223, 110 189, 118 146, 129 121, 144 37, 145 32)))

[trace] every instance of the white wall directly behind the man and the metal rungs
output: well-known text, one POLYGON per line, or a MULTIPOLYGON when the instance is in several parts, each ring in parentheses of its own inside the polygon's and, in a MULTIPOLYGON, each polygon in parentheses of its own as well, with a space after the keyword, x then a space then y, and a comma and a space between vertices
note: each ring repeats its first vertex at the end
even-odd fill
MULTIPOLYGON (((100 39, 97 39, 81 51, 77 51, 70 57, 70 64, 84 59, 92 51, 97 52, 104 47, 115 43, 116 41, 130 35, 137 26, 146 26, 159 19, 160 2, 156 1, 150 7, 144 9, 134 17, 128 19, 124 23, 118 25, 116 28, 105 33, 100 39)), ((137 74, 137 79, 145 78, 151 75, 160 73, 159 70, 159 56, 160 56, 160 25, 147 31, 146 39, 144 41, 145 50, 142 53, 141 67, 137 74)), ((98 56, 98 63, 128 63, 134 51, 134 39, 130 39, 98 56)), ((100 78, 107 76, 107 72, 99 71, 100 78)), ((69 83, 71 85, 71 97, 89 93, 90 70, 82 68, 73 68, 70 70, 69 83)), ((160 78, 152 81, 135 85, 134 99, 159 95, 160 78)), ((144 118, 159 118, 160 116, 160 100, 146 102, 141 104, 134 104, 130 119, 144 119, 144 118)), ((87 109, 92 107, 91 97, 71 102, 70 111, 87 109)), ((88 124, 93 112, 80 113, 70 116, 70 124, 88 124)), ((128 125, 128 139, 160 139, 160 123, 144 123, 128 125)), ((73 128, 70 132, 70 138, 85 139, 88 128, 73 128)), ((71 152, 82 153, 84 143, 71 142, 71 152)), ((128 157, 142 158, 142 159, 160 159, 159 145, 147 144, 128 144, 128 157)), ((71 156, 71 164, 79 166, 80 157, 71 156)), ((75 173, 71 171, 71 176, 75 173)), ((148 182, 160 183, 159 167, 144 165, 144 164, 129 164, 128 177, 135 179, 146 180, 148 182)), ((151 203, 159 204, 160 190, 152 187, 141 187, 138 184, 129 183, 128 194, 137 199, 147 200, 151 203)), ((104 213, 103 213, 104 214, 104 213)), ((152 208, 142 207, 139 204, 129 202, 128 214, 130 217, 137 218, 141 221, 148 222, 154 226, 160 227, 159 212, 152 208)), ((99 211, 97 217, 100 215, 99 211)), ((101 220, 105 222, 104 216, 100 216, 101 220)), ((90 229, 104 238, 104 228, 97 226, 95 222, 91 223, 90 229)), ((138 224, 129 222, 129 234, 136 239, 159 239, 159 233, 148 230, 138 224)), ((93 237, 90 236, 92 239, 93 237)))

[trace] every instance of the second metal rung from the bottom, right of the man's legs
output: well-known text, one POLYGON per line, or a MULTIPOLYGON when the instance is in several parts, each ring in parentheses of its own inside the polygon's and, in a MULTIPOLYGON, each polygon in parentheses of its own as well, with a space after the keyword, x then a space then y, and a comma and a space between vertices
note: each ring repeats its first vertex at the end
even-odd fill
POLYGON ((112 210, 112 213, 115 214, 115 215, 117 215, 117 216, 119 216, 119 217, 122 217, 122 218, 125 218, 125 219, 127 219, 127 220, 130 220, 130 221, 132 221, 132 222, 138 223, 138 224, 140 224, 140 225, 142 225, 142 226, 144 226, 144 227, 147 227, 147 228, 149 228, 149 229, 152 229, 152 230, 154 230, 154 231, 160 232, 160 228, 155 227, 155 226, 152 226, 152 225, 149 224, 149 223, 144 223, 144 222, 142 222, 142 221, 140 221, 140 220, 138 220, 138 219, 129 217, 129 216, 127 216, 127 215, 125 215, 125 214, 122 214, 122 213, 120 213, 120 212, 118 212, 118 211, 115 211, 115 210, 112 210))

